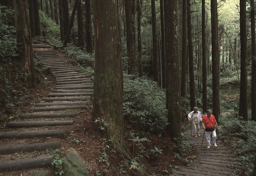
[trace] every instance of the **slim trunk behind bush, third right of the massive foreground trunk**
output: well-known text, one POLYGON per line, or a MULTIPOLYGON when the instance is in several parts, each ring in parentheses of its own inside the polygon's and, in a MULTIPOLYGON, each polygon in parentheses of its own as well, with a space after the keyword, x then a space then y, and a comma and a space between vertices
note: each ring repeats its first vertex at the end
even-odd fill
POLYGON ((153 38, 153 68, 154 81, 159 84, 159 65, 158 65, 158 42, 157 42, 157 22, 156 22, 156 5, 155 0, 151 0, 151 17, 152 17, 152 38, 153 38))

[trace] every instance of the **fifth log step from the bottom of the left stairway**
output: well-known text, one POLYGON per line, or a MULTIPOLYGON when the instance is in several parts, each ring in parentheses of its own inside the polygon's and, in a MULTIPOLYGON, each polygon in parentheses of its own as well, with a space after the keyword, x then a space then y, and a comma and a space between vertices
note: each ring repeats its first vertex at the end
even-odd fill
POLYGON ((46 114, 20 114, 19 117, 22 119, 31 119, 31 118, 63 118, 63 117, 77 117, 79 113, 46 113, 46 114))

